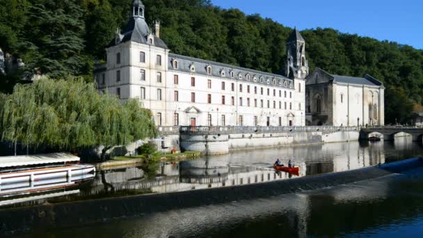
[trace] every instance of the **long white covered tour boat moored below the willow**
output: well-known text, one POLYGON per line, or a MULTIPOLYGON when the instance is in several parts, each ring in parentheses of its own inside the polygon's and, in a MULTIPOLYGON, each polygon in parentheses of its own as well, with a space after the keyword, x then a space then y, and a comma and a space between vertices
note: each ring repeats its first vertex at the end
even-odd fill
POLYGON ((95 173, 95 167, 79 164, 79 157, 72 154, 0 157, 0 184, 74 177, 87 173, 95 173))

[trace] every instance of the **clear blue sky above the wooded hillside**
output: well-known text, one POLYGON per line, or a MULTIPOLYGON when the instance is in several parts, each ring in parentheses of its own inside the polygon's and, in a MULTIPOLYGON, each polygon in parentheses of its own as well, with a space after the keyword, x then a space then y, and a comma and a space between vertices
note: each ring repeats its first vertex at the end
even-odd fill
POLYGON ((423 49, 423 0, 212 0, 221 8, 259 13, 299 30, 330 27, 343 33, 423 49))

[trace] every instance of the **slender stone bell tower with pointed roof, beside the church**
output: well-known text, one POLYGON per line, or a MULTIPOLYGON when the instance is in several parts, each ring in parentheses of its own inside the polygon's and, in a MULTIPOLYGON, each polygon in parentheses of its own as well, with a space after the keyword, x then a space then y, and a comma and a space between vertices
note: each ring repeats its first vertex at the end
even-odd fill
POLYGON ((305 79, 308 75, 308 61, 305 58, 305 40, 295 28, 287 41, 287 77, 305 79))

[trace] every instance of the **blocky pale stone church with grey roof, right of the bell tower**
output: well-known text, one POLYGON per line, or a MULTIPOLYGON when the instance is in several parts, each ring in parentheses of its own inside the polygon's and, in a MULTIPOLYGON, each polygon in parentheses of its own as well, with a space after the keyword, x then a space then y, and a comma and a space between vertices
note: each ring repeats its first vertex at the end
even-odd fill
POLYGON ((384 125, 384 90, 368 74, 346 77, 317 68, 306 77, 307 125, 384 125))

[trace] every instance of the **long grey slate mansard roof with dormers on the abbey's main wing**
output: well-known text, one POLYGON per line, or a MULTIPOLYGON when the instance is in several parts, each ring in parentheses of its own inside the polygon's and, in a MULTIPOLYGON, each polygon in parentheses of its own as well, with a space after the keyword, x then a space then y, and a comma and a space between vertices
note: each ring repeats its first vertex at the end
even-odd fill
POLYGON ((192 72, 191 65, 195 67, 195 74, 211 75, 212 77, 227 78, 234 80, 245 80, 247 81, 247 75, 250 75, 249 81, 255 84, 265 84, 269 86, 279 86, 285 88, 285 81, 287 82, 286 88, 294 88, 293 80, 288 79, 285 76, 279 74, 272 74, 269 72, 262 72, 258 70, 250 70, 248 68, 242 68, 234 65, 228 65, 225 63, 218 63, 214 61, 207 61, 200 58, 193 58, 189 56, 182 56, 179 54, 169 54, 168 57, 168 69, 180 72, 192 72), (173 61, 178 62, 178 68, 174 68, 173 61), (207 74, 207 68, 212 67, 212 74, 207 74), (224 72, 224 75, 223 73, 224 72), (234 77, 231 76, 231 72, 234 72, 234 77), (254 80, 256 79, 256 81, 254 80), (261 81, 263 79, 263 83, 261 81), (273 85, 273 79, 276 80, 276 85, 273 85), (268 83, 269 80, 269 83, 268 83))

